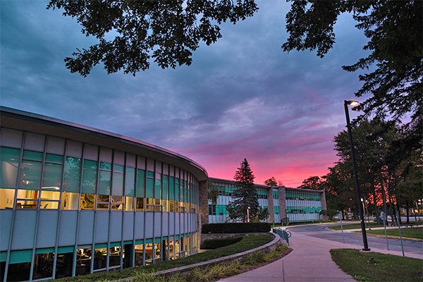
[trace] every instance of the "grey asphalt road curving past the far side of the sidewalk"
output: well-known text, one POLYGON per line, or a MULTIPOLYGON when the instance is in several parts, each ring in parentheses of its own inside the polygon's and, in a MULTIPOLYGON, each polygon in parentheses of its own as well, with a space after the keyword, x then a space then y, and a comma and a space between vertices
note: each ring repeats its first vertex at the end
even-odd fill
MULTIPOLYGON (((295 233, 307 233, 309 236, 316 238, 336 241, 343 243, 341 231, 328 230, 328 226, 340 225, 340 223, 329 223, 322 225, 309 225, 309 226, 298 226, 290 227, 289 230, 295 233)), ((363 246, 363 239, 361 234, 344 232, 345 243, 352 245, 363 246)), ((386 249, 386 239, 384 237, 378 237, 367 234, 367 243, 369 248, 372 249, 386 249)), ((401 251, 401 243, 399 239, 388 238, 389 250, 401 251)), ((404 251, 412 252, 418 255, 423 255, 423 242, 415 240, 403 240, 404 251)))

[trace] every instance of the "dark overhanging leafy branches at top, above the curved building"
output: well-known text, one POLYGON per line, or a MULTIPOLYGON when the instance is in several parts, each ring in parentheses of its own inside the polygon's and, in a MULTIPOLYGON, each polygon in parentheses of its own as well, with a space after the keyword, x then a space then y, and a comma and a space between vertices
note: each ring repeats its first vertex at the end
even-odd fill
POLYGON ((47 8, 62 8, 63 16, 76 18, 82 33, 98 44, 77 49, 65 59, 72 73, 87 76, 103 63, 107 73, 135 75, 153 60, 161 68, 190 65, 192 51, 222 35, 219 25, 237 23, 257 11, 252 0, 75 1, 51 0, 47 8), (112 38, 112 39, 109 39, 112 38))

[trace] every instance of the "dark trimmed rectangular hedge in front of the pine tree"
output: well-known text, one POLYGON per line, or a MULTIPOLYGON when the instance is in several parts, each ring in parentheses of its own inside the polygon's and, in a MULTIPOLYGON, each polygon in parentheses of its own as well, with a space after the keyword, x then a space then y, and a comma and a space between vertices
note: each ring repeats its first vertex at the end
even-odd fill
POLYGON ((202 226, 202 233, 254 233, 270 232, 267 222, 258 223, 211 223, 202 226))

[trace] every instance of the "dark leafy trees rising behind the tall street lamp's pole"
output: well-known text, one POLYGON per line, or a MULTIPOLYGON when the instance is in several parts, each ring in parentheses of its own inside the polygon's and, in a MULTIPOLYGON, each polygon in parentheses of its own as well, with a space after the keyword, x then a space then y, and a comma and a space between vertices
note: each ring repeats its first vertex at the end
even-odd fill
MULTIPOLYGON (((374 119, 363 120, 353 126, 353 142, 357 157, 357 174, 362 195, 372 204, 377 216, 383 204, 388 213, 398 207, 410 207, 423 197, 422 151, 404 151, 404 133, 398 125, 374 119)), ((343 130, 334 137, 339 157, 326 176, 307 178, 300 188, 313 185, 325 190, 328 209, 357 209, 353 182, 348 133, 343 130)))

